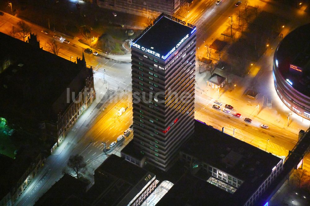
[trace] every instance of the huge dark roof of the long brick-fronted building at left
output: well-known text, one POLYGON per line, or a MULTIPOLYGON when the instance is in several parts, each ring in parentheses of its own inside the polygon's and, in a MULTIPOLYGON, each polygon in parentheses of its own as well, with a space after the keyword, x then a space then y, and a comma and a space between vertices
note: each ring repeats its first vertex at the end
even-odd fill
POLYGON ((1 116, 9 121, 14 116, 24 122, 55 122, 72 102, 72 98, 67 102, 67 88, 70 97, 72 92, 77 96, 91 70, 82 60, 70 62, 3 33, 0 38, 0 62, 8 64, 5 69, 0 66, 0 72, 4 69, 0 73, 1 116))

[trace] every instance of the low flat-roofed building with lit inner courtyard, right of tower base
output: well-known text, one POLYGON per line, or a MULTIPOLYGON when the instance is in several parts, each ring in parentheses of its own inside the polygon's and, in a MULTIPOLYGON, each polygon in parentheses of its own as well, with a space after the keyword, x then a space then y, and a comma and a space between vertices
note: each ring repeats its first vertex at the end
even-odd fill
POLYGON ((157 205, 255 205, 283 166, 281 158, 197 120, 179 154, 193 175, 182 177, 157 205))

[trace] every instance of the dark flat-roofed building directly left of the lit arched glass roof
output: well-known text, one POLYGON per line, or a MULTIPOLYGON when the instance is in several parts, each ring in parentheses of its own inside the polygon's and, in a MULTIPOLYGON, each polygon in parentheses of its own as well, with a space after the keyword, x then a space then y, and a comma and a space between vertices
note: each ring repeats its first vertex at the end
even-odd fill
POLYGON ((94 205, 127 205, 155 175, 111 154, 96 170, 95 185, 87 192, 94 205))

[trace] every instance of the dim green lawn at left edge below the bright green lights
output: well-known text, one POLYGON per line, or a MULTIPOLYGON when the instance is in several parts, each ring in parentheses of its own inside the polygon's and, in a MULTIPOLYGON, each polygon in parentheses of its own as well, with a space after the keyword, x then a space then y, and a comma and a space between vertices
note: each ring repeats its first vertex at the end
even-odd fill
POLYGON ((9 128, 0 129, 0 153, 15 159, 16 147, 11 139, 11 136, 3 132, 5 129, 10 130, 9 128))

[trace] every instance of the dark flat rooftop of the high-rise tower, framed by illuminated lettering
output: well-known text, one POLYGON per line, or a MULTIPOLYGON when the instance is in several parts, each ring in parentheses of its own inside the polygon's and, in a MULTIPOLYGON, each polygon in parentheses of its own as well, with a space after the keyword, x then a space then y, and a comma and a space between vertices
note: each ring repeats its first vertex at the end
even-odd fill
POLYGON ((133 42, 165 56, 187 34, 190 36, 192 31, 193 28, 162 16, 147 32, 133 42))

